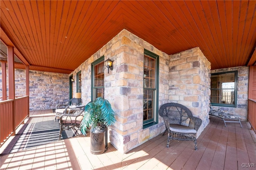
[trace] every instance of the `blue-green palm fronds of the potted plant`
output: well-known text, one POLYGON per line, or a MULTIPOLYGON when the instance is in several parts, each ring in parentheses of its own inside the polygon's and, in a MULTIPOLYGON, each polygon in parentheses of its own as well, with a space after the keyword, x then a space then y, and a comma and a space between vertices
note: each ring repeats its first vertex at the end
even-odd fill
POLYGON ((85 106, 84 119, 82 119, 80 129, 86 135, 89 127, 93 130, 102 126, 112 125, 115 121, 115 112, 111 104, 108 100, 99 97, 85 106))

